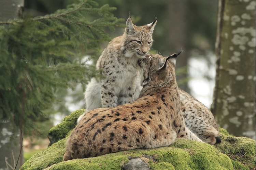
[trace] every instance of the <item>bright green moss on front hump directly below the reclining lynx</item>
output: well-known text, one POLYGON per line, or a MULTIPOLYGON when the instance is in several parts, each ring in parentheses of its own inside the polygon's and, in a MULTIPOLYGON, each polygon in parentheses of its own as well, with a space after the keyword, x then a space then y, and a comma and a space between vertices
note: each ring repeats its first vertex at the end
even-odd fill
POLYGON ((66 139, 62 139, 48 147, 45 151, 31 157, 22 167, 26 170, 78 170, 78 169, 121 169, 128 156, 142 157, 152 155, 157 162, 148 161, 151 169, 233 169, 228 156, 215 147, 195 141, 177 139, 173 145, 156 149, 136 149, 106 154, 94 158, 73 159, 62 162, 66 139), (187 144, 188 143, 188 144, 187 144), (180 148, 179 148, 180 147, 180 148), (52 166, 51 166, 52 165, 52 166), (51 167, 49 167, 51 166, 51 167))

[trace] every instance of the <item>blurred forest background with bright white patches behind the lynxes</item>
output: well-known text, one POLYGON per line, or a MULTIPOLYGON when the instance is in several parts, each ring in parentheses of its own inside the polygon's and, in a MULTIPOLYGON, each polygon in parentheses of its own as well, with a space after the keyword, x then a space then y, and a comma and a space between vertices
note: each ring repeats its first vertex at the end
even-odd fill
MULTIPOLYGON (((32 14, 33 17, 44 16, 78 2, 77 0, 25 0, 23 15, 24 18, 28 14, 32 14)), ((100 0, 97 2, 99 6, 109 4, 110 7, 116 7, 116 10, 112 13, 117 18, 123 18, 123 24, 129 17, 129 13, 133 23, 137 26, 151 23, 157 17, 158 21, 153 33, 154 43, 151 52, 168 56, 182 49, 183 53, 179 56, 176 65, 179 87, 207 107, 211 107, 216 74, 215 41, 218 0, 100 0)), ((84 17, 91 16, 88 14, 84 17)), ((123 32, 124 27, 116 27, 115 31, 107 30, 112 38, 122 35, 123 32)), ((88 56, 95 56, 92 62, 95 64, 108 43, 109 41, 102 43, 101 50, 98 52, 95 52, 95 50, 84 51, 85 60, 88 56)), ((25 153, 34 154, 28 148, 36 149, 36 152, 38 152, 40 146, 47 147, 49 129, 60 123, 65 116, 73 111, 85 108, 84 86, 76 82, 70 82, 70 84, 75 88, 56 89, 56 101, 53 106, 45 109, 43 111, 44 116, 35 120, 42 128, 40 133, 26 138, 24 141, 25 153)), ((252 119, 255 119, 255 113, 252 119)), ((247 137, 255 139, 255 135, 248 135, 247 137)))

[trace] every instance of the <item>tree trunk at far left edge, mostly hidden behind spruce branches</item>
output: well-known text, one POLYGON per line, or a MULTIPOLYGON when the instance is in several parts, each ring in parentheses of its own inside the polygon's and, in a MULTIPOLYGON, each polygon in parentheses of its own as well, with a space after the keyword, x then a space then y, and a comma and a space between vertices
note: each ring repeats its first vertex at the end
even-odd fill
MULTIPOLYGON (((0 21, 22 19, 23 5, 24 0, 0 0, 0 21)), ((15 167, 19 169, 24 163, 22 135, 19 134, 10 141, 11 132, 11 123, 3 122, 0 127, 0 169, 3 170, 15 169, 15 167)))

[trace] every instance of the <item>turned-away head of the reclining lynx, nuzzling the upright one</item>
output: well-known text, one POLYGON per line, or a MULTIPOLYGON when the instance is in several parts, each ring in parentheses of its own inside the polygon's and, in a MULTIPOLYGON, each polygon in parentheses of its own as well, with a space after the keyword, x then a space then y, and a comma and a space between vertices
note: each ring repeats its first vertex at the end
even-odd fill
POLYGON ((175 64, 176 57, 181 53, 163 57, 158 54, 146 55, 139 60, 138 65, 142 68, 142 86, 150 83, 153 86, 171 86, 176 84, 175 64))

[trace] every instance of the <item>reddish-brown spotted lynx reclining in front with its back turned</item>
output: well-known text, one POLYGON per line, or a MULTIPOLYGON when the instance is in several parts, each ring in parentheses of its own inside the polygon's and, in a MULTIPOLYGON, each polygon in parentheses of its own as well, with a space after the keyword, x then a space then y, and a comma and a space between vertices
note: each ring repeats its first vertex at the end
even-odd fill
POLYGON ((63 159, 95 157, 135 148, 168 146, 175 138, 202 142, 185 126, 175 79, 176 56, 147 55, 139 61, 139 98, 114 108, 88 111, 66 143, 63 159))

